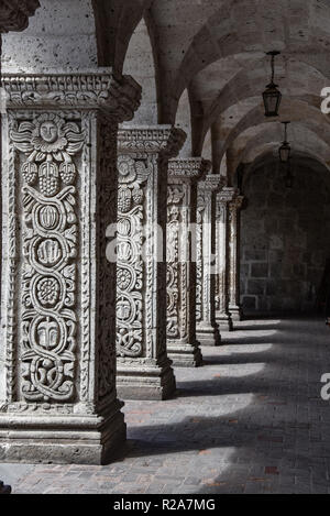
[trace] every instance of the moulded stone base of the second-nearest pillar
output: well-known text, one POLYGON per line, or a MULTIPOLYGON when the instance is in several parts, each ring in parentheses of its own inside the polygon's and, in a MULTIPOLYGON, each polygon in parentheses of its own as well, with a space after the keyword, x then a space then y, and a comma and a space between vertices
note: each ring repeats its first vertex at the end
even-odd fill
POLYGON ((131 364, 117 362, 117 392, 123 399, 163 400, 173 396, 176 383, 172 362, 153 364, 151 360, 131 364))

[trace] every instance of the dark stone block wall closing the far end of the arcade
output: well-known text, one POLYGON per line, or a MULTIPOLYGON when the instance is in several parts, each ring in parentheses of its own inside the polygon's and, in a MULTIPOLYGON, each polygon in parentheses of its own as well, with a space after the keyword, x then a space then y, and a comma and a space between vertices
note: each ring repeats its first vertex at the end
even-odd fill
POLYGON ((248 179, 241 216, 241 301, 245 312, 307 311, 330 257, 330 176, 295 169, 286 188, 277 164, 248 179))

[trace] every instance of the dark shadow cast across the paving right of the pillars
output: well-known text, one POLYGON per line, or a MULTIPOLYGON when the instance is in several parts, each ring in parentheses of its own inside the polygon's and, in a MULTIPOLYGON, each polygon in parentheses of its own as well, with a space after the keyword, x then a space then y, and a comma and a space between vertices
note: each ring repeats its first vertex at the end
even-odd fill
MULTIPOLYGON (((238 332, 246 331, 242 328, 238 332)), ((256 325, 255 329, 261 327, 256 325)), ((305 493, 312 488, 328 493, 330 411, 320 397, 320 376, 330 371, 330 354, 324 354, 328 333, 321 320, 285 320, 275 327, 270 325, 270 329, 278 332, 258 342, 272 344, 270 349, 252 354, 208 355, 207 366, 215 369, 216 377, 196 380, 195 373, 191 381, 178 380, 178 399, 191 399, 191 415, 180 422, 169 419, 130 426, 127 455, 143 457, 147 463, 148 457, 162 453, 189 457, 194 452, 191 460, 194 457, 197 469, 205 463, 210 471, 219 471, 224 450, 231 450, 226 471, 213 475, 196 493, 228 493, 229 483, 230 492, 246 492, 246 482, 251 482, 251 492, 305 493), (257 363, 262 363, 262 370, 250 374, 249 365, 257 363), (227 367, 221 375, 221 366, 234 364, 246 364, 245 374, 235 376, 227 367), (238 395, 250 398, 248 406, 235 410, 238 395), (201 396, 218 396, 226 414, 196 415, 193 400, 201 396)), ((254 344, 255 338, 238 337, 228 345, 249 343, 254 344)), ((175 404, 168 403, 170 407, 175 404)), ((206 404, 206 410, 212 410, 212 406, 206 404)))

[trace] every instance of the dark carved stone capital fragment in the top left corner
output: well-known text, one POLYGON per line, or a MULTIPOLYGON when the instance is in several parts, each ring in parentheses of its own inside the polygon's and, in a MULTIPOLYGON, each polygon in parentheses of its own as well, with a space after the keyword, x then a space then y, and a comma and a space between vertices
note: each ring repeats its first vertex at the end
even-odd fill
POLYGON ((0 0, 0 33, 23 31, 38 8, 38 0, 0 0))

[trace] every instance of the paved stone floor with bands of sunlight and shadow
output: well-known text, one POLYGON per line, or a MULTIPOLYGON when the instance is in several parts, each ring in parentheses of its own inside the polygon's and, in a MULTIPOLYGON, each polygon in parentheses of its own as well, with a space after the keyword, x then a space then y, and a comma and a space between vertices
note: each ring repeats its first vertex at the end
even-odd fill
POLYGON ((176 370, 177 397, 128 402, 125 458, 107 466, 0 464, 13 493, 330 493, 330 330, 248 320, 176 370))

